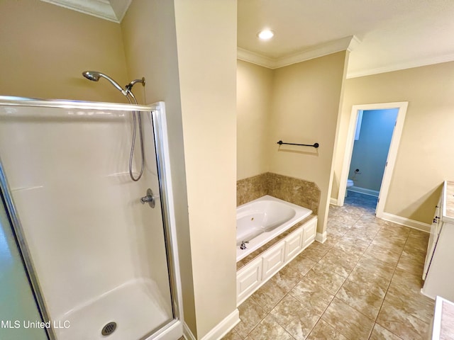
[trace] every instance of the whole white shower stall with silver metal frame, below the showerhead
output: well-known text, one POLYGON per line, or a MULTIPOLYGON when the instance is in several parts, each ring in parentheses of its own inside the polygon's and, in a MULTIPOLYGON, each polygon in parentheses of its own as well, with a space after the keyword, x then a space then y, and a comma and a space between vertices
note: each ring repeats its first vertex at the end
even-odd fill
POLYGON ((0 96, 0 184, 49 339, 182 335, 164 103, 0 96))

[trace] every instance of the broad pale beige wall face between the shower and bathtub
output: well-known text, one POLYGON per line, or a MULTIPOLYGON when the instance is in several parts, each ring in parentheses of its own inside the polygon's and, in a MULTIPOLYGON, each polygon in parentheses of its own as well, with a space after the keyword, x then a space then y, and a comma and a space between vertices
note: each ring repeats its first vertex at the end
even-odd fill
POLYGON ((236 1, 175 1, 201 339, 236 310, 236 1))

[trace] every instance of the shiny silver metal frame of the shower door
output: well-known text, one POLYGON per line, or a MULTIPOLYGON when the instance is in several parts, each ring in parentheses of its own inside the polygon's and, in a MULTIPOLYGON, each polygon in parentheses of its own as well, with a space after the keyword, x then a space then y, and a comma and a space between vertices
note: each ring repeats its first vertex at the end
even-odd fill
MULTIPOLYGON (((179 261, 177 251, 177 233, 175 229, 175 215, 173 210, 172 179, 170 176, 170 157, 167 142, 167 124, 165 118, 165 102, 160 101, 151 105, 132 105, 122 103, 104 103, 89 101, 67 101, 55 99, 26 98, 16 96, 0 96, 0 106, 36 107, 36 108, 65 108, 80 110, 111 110, 111 111, 139 111, 150 115, 153 124, 154 149, 157 163, 157 178, 160 188, 160 200, 162 207, 162 225, 165 237, 165 249, 167 256, 167 271, 170 284, 170 298, 172 304, 173 319, 152 334, 147 334, 142 339, 157 339, 160 334, 172 331, 172 327, 182 329, 182 288, 179 278, 179 261), (177 323, 179 323, 177 325, 177 323)), ((48 307, 45 304, 43 291, 40 288, 38 275, 33 265, 31 252, 26 243, 21 221, 18 217, 16 205, 13 202, 11 189, 1 162, 0 155, 0 195, 4 198, 6 212, 11 220, 13 234, 16 237, 18 250, 21 254, 26 274, 31 283, 31 289, 36 300, 38 312, 43 322, 49 322, 48 307)), ((54 329, 45 328, 50 340, 57 340, 54 329)))

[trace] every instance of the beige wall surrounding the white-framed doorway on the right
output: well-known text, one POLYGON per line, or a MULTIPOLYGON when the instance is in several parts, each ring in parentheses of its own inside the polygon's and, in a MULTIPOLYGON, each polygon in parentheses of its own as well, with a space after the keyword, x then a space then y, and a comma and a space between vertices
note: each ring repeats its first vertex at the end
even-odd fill
POLYGON ((409 101, 384 212, 431 223, 441 183, 454 178, 454 62, 347 79, 332 196, 356 104, 409 101))

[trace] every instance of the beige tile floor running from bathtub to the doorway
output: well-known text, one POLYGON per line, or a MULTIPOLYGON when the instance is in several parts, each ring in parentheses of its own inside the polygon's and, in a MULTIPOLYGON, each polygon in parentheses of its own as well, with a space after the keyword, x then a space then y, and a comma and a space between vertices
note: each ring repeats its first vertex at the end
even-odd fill
POLYGON ((420 293, 428 234, 375 217, 372 196, 331 205, 314 242, 240 310, 224 340, 428 339, 433 300, 420 293))

